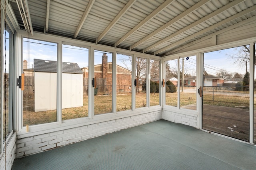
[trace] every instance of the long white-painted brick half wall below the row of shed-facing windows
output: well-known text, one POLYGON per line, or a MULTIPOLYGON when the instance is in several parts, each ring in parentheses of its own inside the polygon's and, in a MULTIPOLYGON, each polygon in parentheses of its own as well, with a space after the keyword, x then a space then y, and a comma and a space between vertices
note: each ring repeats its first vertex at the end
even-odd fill
POLYGON ((33 137, 26 137, 22 139, 18 139, 19 137, 17 137, 15 158, 35 154, 44 150, 54 149, 56 147, 69 145, 79 141, 84 141, 86 139, 98 137, 129 127, 142 125, 144 123, 149 123, 159 119, 162 119, 162 110, 128 116, 121 119, 103 121, 100 123, 65 129, 62 131, 45 133, 33 137))

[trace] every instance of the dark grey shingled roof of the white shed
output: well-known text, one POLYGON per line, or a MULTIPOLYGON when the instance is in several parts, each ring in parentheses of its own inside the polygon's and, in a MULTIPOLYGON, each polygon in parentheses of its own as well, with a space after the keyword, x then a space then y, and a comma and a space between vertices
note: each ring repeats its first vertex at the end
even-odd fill
MULTIPOLYGON (((57 61, 34 59, 34 72, 57 72, 57 61)), ((62 62, 62 72, 83 74, 77 63, 62 62)))

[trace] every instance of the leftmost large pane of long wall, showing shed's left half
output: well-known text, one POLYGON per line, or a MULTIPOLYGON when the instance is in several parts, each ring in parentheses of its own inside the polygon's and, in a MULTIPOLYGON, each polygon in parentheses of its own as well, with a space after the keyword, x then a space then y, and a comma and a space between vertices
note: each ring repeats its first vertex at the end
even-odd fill
POLYGON ((57 120, 57 44, 23 39, 23 126, 57 120))

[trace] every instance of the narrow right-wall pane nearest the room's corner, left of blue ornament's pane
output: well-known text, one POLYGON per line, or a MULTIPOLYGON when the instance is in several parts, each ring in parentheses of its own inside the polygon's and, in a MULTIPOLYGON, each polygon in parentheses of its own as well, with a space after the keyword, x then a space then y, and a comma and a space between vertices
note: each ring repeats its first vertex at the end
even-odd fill
POLYGON ((178 107, 178 60, 165 61, 165 104, 178 107))

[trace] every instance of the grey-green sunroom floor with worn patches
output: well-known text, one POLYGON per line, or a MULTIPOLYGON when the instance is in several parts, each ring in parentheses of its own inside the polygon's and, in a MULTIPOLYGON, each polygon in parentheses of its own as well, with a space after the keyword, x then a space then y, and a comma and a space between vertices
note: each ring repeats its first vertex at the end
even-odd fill
POLYGON ((256 169, 256 146, 165 120, 14 161, 13 170, 256 169))

